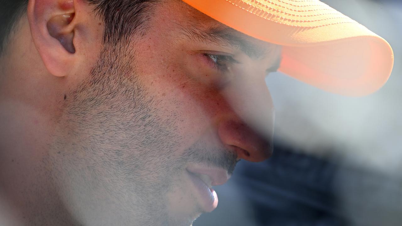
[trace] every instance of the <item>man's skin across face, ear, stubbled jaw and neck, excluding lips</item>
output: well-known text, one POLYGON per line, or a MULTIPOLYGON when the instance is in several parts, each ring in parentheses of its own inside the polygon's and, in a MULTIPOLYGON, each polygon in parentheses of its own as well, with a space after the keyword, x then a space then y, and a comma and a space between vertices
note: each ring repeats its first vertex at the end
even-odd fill
POLYGON ((93 7, 30 1, 2 55, 4 222, 190 225, 203 210, 187 167, 230 175, 240 159, 271 155, 265 76, 281 48, 230 30, 256 58, 191 37, 183 31, 228 28, 174 0, 155 7, 145 34, 104 45, 93 7), (213 54, 239 63, 217 70, 213 54))

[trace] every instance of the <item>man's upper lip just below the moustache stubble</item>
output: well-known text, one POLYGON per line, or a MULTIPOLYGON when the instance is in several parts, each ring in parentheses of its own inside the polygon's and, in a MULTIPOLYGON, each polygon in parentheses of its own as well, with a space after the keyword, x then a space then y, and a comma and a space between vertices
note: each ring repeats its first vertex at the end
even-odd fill
POLYGON ((188 166, 186 169, 189 173, 192 173, 193 175, 199 177, 209 187, 211 185, 223 185, 230 178, 230 175, 228 175, 228 171, 224 170, 223 168, 191 165, 188 166), (201 175, 206 175, 209 180, 201 175))

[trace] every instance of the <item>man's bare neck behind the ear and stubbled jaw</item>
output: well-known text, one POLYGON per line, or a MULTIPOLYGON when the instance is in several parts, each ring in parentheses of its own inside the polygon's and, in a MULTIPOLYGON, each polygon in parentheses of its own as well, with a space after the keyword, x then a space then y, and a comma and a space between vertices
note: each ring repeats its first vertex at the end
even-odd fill
POLYGON ((27 20, 17 27, 0 58, 0 225, 74 226, 47 161, 60 78, 45 70, 27 20))

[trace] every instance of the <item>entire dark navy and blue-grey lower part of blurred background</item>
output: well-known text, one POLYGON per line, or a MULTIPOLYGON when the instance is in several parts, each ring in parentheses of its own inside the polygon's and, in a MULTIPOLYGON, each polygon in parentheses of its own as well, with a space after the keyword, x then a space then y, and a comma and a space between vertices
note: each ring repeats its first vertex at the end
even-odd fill
POLYGON ((194 226, 397 226, 398 187, 395 178, 280 143, 265 162, 239 162, 230 185, 216 188, 218 208, 194 226))

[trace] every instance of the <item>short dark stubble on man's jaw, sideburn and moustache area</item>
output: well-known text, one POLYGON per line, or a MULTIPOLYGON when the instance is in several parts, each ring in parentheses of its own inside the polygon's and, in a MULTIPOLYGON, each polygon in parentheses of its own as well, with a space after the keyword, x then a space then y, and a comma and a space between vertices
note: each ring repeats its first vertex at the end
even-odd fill
POLYGON ((232 173, 237 156, 202 142, 177 150, 185 139, 175 125, 180 114, 168 113, 142 85, 132 45, 105 46, 67 95, 48 156, 51 175, 64 208, 82 225, 188 226, 194 219, 171 216, 167 198, 183 186, 185 166, 203 162, 232 173))

